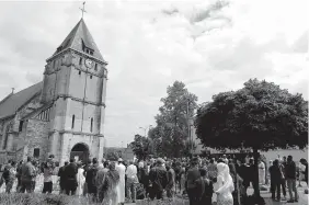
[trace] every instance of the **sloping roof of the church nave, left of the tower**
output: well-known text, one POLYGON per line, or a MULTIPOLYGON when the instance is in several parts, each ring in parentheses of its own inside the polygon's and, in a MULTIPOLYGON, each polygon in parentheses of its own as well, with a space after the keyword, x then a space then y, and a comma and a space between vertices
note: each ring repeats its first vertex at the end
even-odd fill
POLYGON ((0 103, 0 119, 15 114, 27 101, 35 94, 39 93, 43 88, 43 82, 33 84, 18 93, 10 94, 0 103))

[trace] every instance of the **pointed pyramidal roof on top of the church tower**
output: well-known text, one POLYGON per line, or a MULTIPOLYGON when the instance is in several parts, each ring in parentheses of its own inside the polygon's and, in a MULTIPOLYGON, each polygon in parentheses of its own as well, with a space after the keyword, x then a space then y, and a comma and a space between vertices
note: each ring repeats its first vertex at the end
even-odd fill
POLYGON ((81 53, 85 53, 85 48, 88 48, 89 50, 93 52, 93 57, 99 60, 105 61, 96 44, 94 43, 83 19, 81 19, 78 24, 72 29, 72 31, 61 43, 61 45, 57 48, 54 55, 67 48, 72 48, 81 53))

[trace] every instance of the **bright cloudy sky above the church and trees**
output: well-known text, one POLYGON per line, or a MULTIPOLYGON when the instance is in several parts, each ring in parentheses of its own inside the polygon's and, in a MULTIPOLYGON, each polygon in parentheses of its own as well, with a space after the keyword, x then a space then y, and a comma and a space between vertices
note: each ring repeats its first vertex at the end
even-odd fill
MULTIPOLYGON (((198 103, 272 81, 308 100, 307 0, 87 1, 84 21, 108 62, 104 136, 125 146, 156 125, 167 87, 198 103)), ((81 18, 79 1, 0 1, 0 99, 43 80, 46 59, 81 18)))

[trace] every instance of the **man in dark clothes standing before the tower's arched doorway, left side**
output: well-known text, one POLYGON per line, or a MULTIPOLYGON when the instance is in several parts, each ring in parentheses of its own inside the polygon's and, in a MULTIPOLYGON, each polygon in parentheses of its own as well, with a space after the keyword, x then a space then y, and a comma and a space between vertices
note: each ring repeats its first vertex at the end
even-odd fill
POLYGON ((78 186, 77 182, 77 173, 78 173, 78 168, 75 162, 75 158, 70 159, 70 163, 66 166, 65 168, 65 182, 66 182, 66 194, 67 195, 75 195, 78 186))

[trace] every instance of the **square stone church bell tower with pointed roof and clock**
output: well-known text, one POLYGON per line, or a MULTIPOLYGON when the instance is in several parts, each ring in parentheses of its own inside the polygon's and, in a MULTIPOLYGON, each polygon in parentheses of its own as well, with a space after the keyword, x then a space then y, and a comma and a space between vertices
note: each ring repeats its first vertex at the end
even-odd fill
POLYGON ((50 103, 48 153, 62 164, 70 158, 103 158, 107 62, 83 19, 48 58, 41 102, 50 103))

